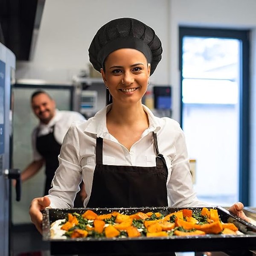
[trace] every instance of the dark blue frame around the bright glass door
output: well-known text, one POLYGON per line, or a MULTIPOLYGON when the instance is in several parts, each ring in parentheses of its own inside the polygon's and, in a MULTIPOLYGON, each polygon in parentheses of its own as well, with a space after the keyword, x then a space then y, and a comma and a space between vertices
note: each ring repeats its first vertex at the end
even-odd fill
POLYGON ((179 27, 179 69, 180 69, 180 125, 182 127, 182 52, 184 36, 200 36, 211 38, 234 38, 240 44, 240 81, 239 81, 239 201, 249 206, 250 172, 249 172, 249 140, 250 140, 250 75, 249 75, 249 38, 250 30, 179 27))

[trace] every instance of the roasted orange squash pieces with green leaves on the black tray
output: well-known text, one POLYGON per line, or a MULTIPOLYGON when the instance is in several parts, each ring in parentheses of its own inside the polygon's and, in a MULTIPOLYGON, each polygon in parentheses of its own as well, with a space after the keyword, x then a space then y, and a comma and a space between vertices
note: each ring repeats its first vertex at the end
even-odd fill
POLYGON ((160 212, 136 212, 126 215, 111 212, 98 215, 88 209, 83 214, 67 213, 67 217, 51 224, 52 239, 122 238, 159 236, 204 236, 206 234, 236 235, 233 223, 223 223, 217 209, 201 212, 181 209, 163 215, 160 212))

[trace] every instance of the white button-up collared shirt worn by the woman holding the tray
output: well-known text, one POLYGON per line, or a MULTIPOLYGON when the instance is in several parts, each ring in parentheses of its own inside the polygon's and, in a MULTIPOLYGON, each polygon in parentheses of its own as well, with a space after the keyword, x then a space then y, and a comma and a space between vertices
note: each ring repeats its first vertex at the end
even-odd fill
MULTIPOLYGON (((172 207, 204 206, 198 201, 193 190, 189 172, 185 137, 180 125, 169 117, 158 118, 143 105, 148 114, 149 127, 130 151, 109 134, 106 114, 110 105, 81 124, 73 124, 68 130, 59 155, 59 167, 49 191, 51 207, 73 207, 79 183, 83 179, 87 198, 92 189, 93 172, 96 166, 96 137, 103 140, 103 164, 122 166, 156 166, 156 152, 152 132, 157 133, 159 152, 163 154, 168 167, 167 193, 168 204, 172 207)), ((156 195, 157 196, 157 195, 156 195)))

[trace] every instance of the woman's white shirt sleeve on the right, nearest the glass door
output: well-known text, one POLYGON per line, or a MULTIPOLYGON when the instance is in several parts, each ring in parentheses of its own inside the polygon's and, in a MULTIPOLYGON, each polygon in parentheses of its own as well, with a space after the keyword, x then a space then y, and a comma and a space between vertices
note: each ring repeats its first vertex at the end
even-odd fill
POLYGON ((193 188, 189 157, 185 136, 180 128, 175 138, 175 157, 172 159, 172 172, 167 184, 168 197, 172 207, 202 207, 206 203, 199 201, 193 188))

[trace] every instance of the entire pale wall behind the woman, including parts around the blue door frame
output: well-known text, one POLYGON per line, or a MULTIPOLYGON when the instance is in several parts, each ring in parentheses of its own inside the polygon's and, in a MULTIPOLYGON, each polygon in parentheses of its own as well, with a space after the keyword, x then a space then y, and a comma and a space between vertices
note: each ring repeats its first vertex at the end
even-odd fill
MULTIPOLYGON (((163 43, 163 59, 151 82, 172 85, 173 118, 179 121, 178 26, 255 29, 255 10, 255 0, 46 0, 34 58, 30 62, 17 63, 17 78, 70 81, 74 74, 87 67, 87 49, 97 29, 117 17, 134 17, 153 27, 163 43)), ((251 38, 254 57, 255 34, 251 38)), ((256 71, 253 59, 250 71, 251 74, 256 71)), ((255 75, 251 76, 251 81, 252 98, 255 99, 255 75)), ((251 104, 253 110, 255 104, 251 104)), ((253 140, 250 149, 253 157, 256 155, 255 114, 251 117, 253 140)), ((251 159, 251 170, 255 167, 256 161, 251 159)), ((251 204, 256 206, 255 171, 252 178, 251 204)))

